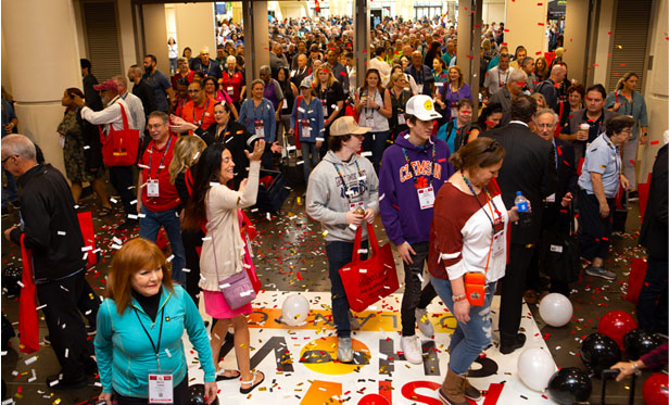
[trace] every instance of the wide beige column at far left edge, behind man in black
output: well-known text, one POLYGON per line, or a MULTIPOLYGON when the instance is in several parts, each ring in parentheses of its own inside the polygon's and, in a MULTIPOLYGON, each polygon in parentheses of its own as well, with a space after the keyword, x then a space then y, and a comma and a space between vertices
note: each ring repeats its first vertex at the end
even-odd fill
POLYGON ((63 149, 55 132, 63 119, 61 99, 66 88, 83 88, 72 0, 3 1, 2 43, 3 55, 8 55, 2 60, 8 71, 3 78, 9 78, 16 101, 18 130, 38 143, 47 162, 64 174, 63 149), (25 63, 36 49, 39 63, 25 63))

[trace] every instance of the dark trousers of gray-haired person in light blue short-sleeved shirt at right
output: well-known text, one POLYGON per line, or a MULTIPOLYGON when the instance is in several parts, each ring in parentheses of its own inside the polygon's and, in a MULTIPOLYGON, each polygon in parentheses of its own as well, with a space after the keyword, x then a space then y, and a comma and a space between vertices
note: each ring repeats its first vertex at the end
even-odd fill
POLYGON ((579 191, 579 219, 581 222, 580 252, 581 257, 592 261, 595 257, 606 258, 610 245, 610 237, 614 230, 613 213, 615 210, 614 199, 606 199, 608 203, 608 216, 599 215, 599 202, 594 194, 588 194, 585 190, 579 191))

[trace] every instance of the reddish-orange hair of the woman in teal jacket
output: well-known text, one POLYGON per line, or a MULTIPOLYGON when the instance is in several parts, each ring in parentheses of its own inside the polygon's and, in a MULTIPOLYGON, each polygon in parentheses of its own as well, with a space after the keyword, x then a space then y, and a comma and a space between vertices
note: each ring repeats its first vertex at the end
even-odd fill
POLYGON ((172 271, 163 251, 148 239, 136 238, 126 242, 112 258, 106 284, 106 298, 114 300, 116 312, 122 315, 132 300, 131 278, 142 269, 161 267, 164 286, 173 292, 172 271))

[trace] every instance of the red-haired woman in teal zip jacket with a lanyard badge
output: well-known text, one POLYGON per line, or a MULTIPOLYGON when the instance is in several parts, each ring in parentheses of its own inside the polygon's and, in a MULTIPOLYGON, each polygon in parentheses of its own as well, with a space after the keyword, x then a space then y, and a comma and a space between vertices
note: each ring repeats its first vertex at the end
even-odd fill
POLYGON ((148 404, 149 397, 172 393, 175 404, 190 403, 184 329, 202 363, 211 404, 217 391, 214 363, 195 304, 181 287, 172 284, 165 256, 153 242, 138 238, 125 243, 112 261, 108 298, 98 311, 100 401, 112 405, 114 393, 119 405, 148 404), (150 392, 149 376, 166 382, 171 378, 167 392, 153 387, 150 392))

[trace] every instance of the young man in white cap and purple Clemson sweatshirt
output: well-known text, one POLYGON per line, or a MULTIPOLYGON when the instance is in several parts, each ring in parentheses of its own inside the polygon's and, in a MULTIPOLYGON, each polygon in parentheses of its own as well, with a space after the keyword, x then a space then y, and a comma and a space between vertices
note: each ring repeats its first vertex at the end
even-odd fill
MULTIPOLYGON (((406 103, 409 130, 400 134, 383 153, 379 193, 381 220, 404 264, 402 340, 400 347, 412 364, 422 363, 420 338, 415 326, 432 338, 434 329, 426 307, 437 295, 431 284, 421 291, 422 268, 430 248, 434 197, 454 173, 446 143, 432 135, 434 111, 429 96, 414 96, 406 103)), ((428 277, 429 279, 429 277, 428 277)))

